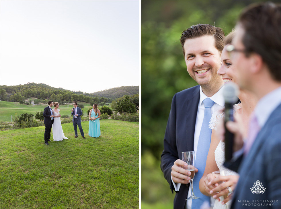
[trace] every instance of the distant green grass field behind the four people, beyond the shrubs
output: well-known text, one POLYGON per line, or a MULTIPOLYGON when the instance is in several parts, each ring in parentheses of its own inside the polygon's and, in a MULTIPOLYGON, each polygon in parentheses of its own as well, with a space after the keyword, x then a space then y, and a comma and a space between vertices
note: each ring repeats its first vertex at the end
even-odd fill
MULTIPOLYGON (((91 107, 90 103, 85 102, 78 102, 82 103, 85 107, 82 109, 84 111, 84 115, 87 115, 87 110, 91 107)), ((11 122, 11 116, 18 116, 23 113, 32 113, 35 114, 36 112, 43 111, 47 104, 40 104, 40 105, 24 105, 20 104, 19 102, 9 102, 9 101, 1 101, 0 103, 0 120, 3 122, 11 122)), ((54 108, 54 107, 52 107, 54 108)), ((58 109, 60 109, 61 115, 70 115, 71 116, 71 108, 73 105, 60 105, 58 109)), ((35 118, 35 117, 34 117, 35 118)))

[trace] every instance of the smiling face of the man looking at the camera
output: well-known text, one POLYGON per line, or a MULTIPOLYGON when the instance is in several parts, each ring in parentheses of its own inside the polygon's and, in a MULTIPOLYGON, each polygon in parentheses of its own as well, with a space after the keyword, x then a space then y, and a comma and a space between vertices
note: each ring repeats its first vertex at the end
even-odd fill
POLYGON ((213 36, 186 39, 184 52, 187 71, 199 85, 211 88, 223 83, 222 77, 217 75, 220 52, 215 47, 213 36))

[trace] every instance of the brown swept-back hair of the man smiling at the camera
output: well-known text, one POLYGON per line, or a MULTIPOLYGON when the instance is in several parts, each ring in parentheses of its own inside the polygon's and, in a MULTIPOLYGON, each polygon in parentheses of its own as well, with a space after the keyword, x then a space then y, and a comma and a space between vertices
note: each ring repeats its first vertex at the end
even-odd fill
POLYGON ((218 49, 220 53, 223 51, 223 47, 224 47, 223 39, 225 38, 225 33, 223 32, 223 29, 209 24, 198 24, 198 25, 192 25, 190 28, 182 32, 180 42, 182 44, 183 54, 184 54, 184 42, 186 41, 186 39, 198 38, 204 35, 213 36, 215 39, 216 49, 218 49))

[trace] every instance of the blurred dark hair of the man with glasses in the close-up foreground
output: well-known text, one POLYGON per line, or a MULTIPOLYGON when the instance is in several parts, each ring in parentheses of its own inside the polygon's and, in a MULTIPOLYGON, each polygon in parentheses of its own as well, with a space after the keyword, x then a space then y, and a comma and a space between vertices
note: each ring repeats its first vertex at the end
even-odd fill
POLYGON ((280 5, 252 4, 241 13, 238 24, 245 30, 245 50, 259 54, 272 78, 280 81, 280 5))

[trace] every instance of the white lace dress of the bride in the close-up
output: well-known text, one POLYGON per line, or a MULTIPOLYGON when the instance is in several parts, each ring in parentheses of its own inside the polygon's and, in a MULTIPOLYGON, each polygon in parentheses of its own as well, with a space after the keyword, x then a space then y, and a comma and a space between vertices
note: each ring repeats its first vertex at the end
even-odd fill
MULTIPOLYGON (((240 104, 236 104, 233 106, 233 111, 235 112, 236 110, 238 110, 240 108, 241 108, 240 104)), ((223 110, 218 110, 218 111, 214 112, 214 114, 212 114, 212 118, 211 118, 209 127, 211 129, 216 130, 218 123, 221 122, 221 120, 223 120, 223 118, 224 118, 223 110)), ((224 142, 220 141, 218 143, 218 146, 216 147, 214 154, 215 154, 216 165, 218 166, 220 171, 225 172, 225 176, 229 176, 229 175, 238 176, 239 175, 236 172, 229 170, 228 168, 225 168, 223 166, 223 163, 225 162, 225 143, 224 142)), ((226 205, 227 205, 227 208, 230 208, 231 200, 228 201, 226 203, 226 205)), ((214 208, 225 208, 225 205, 222 205, 221 201, 218 202, 218 200, 215 200, 214 208)))

